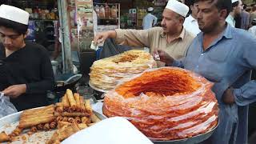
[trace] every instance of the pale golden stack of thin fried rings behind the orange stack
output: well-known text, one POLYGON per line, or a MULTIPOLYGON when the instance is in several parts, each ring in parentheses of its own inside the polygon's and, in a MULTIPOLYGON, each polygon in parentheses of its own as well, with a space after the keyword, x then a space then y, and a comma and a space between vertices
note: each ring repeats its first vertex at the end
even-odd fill
POLYGON ((156 66, 154 58, 144 50, 129 50, 94 62, 90 67, 90 85, 98 90, 113 90, 124 78, 156 66))

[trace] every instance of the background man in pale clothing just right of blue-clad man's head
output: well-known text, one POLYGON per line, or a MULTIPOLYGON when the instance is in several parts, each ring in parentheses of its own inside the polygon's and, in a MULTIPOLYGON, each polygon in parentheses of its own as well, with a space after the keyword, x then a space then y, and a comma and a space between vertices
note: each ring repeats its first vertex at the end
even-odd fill
POLYGON ((231 0, 231 2, 232 2, 232 10, 230 11, 229 16, 226 18, 226 22, 228 22, 230 26, 235 27, 234 18, 242 13, 242 1, 231 0))

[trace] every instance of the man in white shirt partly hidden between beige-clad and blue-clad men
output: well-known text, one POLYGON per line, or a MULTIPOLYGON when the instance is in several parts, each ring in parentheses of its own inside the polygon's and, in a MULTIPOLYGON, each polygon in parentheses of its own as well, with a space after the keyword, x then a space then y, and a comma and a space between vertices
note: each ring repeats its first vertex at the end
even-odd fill
POLYGON ((198 14, 198 2, 195 2, 195 0, 186 0, 185 1, 186 6, 190 7, 190 16, 185 19, 185 22, 183 23, 183 26, 187 31, 189 31, 191 34, 194 34, 196 36, 198 33, 201 32, 198 26, 198 20, 197 20, 197 14, 198 14))

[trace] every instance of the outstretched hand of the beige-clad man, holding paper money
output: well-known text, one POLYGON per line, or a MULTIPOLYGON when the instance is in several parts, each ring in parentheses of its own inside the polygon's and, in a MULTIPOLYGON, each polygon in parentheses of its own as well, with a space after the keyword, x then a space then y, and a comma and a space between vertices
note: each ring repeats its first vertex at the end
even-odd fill
POLYGON ((98 45, 106 40, 106 38, 116 38, 115 30, 105 31, 99 34, 96 34, 94 37, 94 45, 98 45))

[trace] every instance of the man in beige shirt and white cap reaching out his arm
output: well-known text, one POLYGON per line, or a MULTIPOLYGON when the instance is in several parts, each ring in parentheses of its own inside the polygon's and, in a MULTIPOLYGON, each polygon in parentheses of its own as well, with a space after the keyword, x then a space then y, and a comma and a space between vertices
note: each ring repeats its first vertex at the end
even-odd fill
MULTIPOLYGON (((175 59, 183 58, 194 39, 192 34, 183 29, 188 11, 188 6, 182 2, 170 0, 162 13, 162 27, 153 27, 148 30, 110 30, 96 35, 94 42, 101 43, 106 38, 115 38, 118 44, 149 47, 150 54, 161 49, 175 59)), ((165 63, 158 62, 158 66, 165 66, 165 63)))

